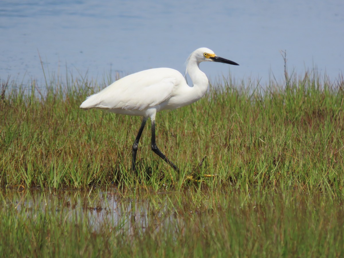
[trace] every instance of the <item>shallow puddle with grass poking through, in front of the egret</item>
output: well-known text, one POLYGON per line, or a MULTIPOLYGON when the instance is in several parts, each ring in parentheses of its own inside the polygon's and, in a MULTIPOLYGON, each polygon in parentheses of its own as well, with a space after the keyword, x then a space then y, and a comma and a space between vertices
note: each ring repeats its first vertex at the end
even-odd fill
POLYGON ((4 197, 6 205, 17 212, 31 216, 52 213, 65 219, 87 219, 94 230, 116 228, 127 234, 134 230, 144 231, 147 227, 163 227, 175 222, 175 209, 170 200, 174 193, 160 193, 154 198, 124 197, 117 191, 42 191, 8 192, 4 197))

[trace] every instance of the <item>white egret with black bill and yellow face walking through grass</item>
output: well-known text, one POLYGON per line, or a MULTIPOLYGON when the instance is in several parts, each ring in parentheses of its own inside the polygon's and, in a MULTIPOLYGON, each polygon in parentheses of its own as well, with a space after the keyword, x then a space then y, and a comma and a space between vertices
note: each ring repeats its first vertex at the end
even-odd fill
POLYGON ((142 116, 142 123, 132 146, 132 170, 135 171, 136 152, 147 119, 152 124, 152 151, 179 171, 157 147, 155 143, 155 115, 166 109, 176 109, 194 103, 202 98, 208 89, 208 78, 200 70, 203 61, 220 62, 232 65, 237 63, 218 57, 202 47, 191 53, 187 59, 186 73, 189 73, 193 86, 186 83, 184 76, 171 68, 154 68, 123 77, 100 92, 89 96, 81 105, 82 109, 106 109, 122 115, 142 116))

